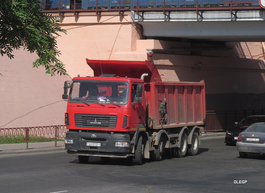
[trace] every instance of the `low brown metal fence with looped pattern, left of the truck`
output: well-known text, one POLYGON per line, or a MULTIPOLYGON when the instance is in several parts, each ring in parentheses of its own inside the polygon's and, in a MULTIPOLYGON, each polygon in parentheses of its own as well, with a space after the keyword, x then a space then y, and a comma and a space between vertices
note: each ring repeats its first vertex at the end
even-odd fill
POLYGON ((55 139, 55 147, 57 147, 57 139, 64 138, 66 132, 65 125, 1 128, 0 143, 25 141, 28 149, 29 141, 55 139))

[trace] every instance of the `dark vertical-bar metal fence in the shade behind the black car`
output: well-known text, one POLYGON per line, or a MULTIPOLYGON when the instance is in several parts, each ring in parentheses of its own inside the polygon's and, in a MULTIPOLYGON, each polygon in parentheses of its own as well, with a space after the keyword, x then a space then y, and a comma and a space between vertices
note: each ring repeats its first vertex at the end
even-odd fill
POLYGON ((250 115, 265 115, 265 109, 238 111, 206 111, 204 132, 226 131, 236 121, 250 115))

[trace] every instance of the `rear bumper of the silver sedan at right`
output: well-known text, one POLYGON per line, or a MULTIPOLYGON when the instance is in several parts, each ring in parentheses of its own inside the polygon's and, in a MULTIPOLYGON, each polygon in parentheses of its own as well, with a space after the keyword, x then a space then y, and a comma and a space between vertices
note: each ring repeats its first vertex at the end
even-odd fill
POLYGON ((237 142, 237 151, 248 152, 248 153, 264 153, 265 154, 265 144, 251 144, 237 142))

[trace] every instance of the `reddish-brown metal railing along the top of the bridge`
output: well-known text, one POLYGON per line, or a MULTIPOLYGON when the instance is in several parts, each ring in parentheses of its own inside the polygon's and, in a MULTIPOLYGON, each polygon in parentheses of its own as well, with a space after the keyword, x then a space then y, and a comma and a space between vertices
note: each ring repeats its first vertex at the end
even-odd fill
POLYGON ((102 12, 141 10, 238 10, 260 9, 259 1, 241 0, 53 0, 40 5, 43 12, 102 12))

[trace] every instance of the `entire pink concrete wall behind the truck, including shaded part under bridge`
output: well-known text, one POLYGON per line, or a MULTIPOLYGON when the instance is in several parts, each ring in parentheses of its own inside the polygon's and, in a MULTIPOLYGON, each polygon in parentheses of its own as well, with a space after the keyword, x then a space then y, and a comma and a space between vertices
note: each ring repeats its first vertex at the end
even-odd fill
MULTIPOLYGON (((45 74, 42 67, 32 68, 36 54, 19 50, 15 58, 0 57, 0 128, 64 124, 67 103, 61 99, 65 80, 92 76, 86 58, 101 60, 147 59, 146 49, 190 48, 190 43, 144 40, 141 26, 130 23, 130 12, 94 13, 79 17, 65 14, 61 26, 67 35, 58 38, 61 61, 69 76, 45 74)), ((206 82, 207 110, 241 110, 265 108, 264 60, 237 58, 233 52, 260 54, 263 43, 230 43, 234 50, 203 51, 153 55, 165 81, 206 82), (240 49, 239 49, 240 48, 240 49), (187 54, 187 55, 182 55, 187 54), (189 55, 191 54, 191 55, 189 55), (198 62, 203 62, 200 71, 198 62)), ((196 47, 196 45, 193 45, 196 47)), ((212 45, 197 45, 209 47, 212 45)), ((256 58, 258 59, 258 58, 256 58)), ((264 59, 260 56, 259 59, 264 59)), ((104 70, 104 69, 103 69, 104 70)), ((122 69, 121 69, 122 70, 122 69)), ((107 72, 105 72, 107 73, 107 72)))

